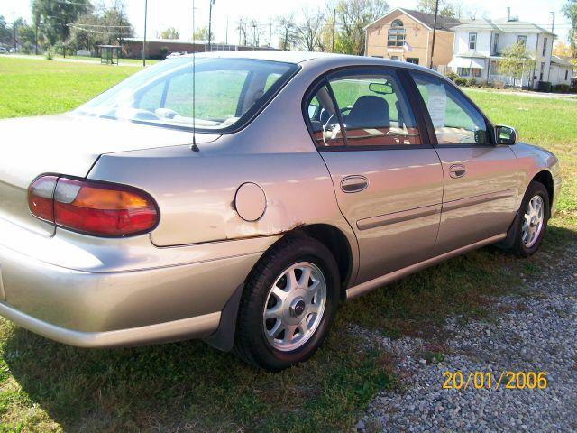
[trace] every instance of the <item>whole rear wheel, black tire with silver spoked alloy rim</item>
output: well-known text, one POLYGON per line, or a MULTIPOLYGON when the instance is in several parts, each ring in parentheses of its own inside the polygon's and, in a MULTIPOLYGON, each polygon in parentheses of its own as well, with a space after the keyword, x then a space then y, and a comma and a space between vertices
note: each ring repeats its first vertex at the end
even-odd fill
POLYGON ((333 323, 339 284, 337 264, 324 244, 305 236, 282 239, 247 280, 236 354, 275 372, 307 360, 333 323))

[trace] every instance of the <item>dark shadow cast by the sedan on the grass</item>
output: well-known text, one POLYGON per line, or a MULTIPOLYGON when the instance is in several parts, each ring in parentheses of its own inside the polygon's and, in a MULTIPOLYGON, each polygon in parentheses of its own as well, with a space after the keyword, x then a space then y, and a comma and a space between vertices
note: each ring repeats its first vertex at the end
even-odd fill
POLYGON ((447 315, 484 314, 490 296, 513 290, 521 272, 539 272, 539 263, 575 239, 572 230, 552 227, 527 261, 489 247, 376 290, 343 306, 316 356, 279 374, 200 342, 83 350, 15 328, 3 352, 26 396, 15 392, 14 399, 39 404, 67 431, 343 430, 394 381, 389 355, 367 349, 348 323, 435 338, 447 315))

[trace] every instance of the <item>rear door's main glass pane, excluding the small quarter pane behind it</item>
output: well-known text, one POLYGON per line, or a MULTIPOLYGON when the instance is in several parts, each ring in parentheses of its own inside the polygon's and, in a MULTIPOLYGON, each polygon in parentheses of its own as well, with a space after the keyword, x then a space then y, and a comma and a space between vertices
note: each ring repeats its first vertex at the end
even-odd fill
POLYGON ((343 71, 328 80, 349 147, 421 144, 415 116, 394 71, 343 71))

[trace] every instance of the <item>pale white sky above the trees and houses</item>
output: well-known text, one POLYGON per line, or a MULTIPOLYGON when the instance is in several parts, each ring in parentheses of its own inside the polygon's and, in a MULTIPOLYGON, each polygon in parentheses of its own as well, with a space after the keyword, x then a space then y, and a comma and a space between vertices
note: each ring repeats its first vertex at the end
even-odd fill
MULTIPOLYGON (((197 14, 196 26, 208 23, 208 5, 210 0, 195 0, 197 14)), ((469 10, 477 11, 477 16, 501 18, 507 14, 507 6, 511 14, 519 19, 530 21, 550 28, 551 11, 555 12, 555 33, 559 40, 566 41, 569 21, 563 16, 561 9, 565 0, 463 0, 465 15, 469 10)), ((137 36, 142 36, 144 23, 144 0, 127 0, 128 15, 137 36)), ((411 8, 417 0, 389 1, 391 8, 396 6, 411 8)), ((148 35, 154 37, 156 32, 167 27, 176 27, 181 39, 189 39, 192 35, 192 0, 148 0, 148 35)), ((226 23, 228 19, 228 41, 238 42, 238 32, 235 30, 239 17, 254 18, 261 23, 270 21, 271 16, 298 12, 302 7, 325 5, 325 0, 216 0, 213 6, 213 28, 215 41, 226 40, 226 23)), ((30 21, 30 0, 0 0, 0 15, 6 21, 12 22, 13 12, 16 17, 23 16, 30 21)), ((466 16, 465 16, 466 17, 466 16)), ((263 24, 266 26, 266 24, 263 24)))

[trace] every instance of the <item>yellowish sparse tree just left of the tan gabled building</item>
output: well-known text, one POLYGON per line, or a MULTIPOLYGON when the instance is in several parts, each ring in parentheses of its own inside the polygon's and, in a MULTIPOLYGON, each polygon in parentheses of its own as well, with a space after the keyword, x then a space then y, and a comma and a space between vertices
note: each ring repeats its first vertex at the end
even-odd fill
POLYGON ((389 12, 389 4, 380 0, 340 0, 336 6, 335 51, 362 56, 364 28, 389 12))

